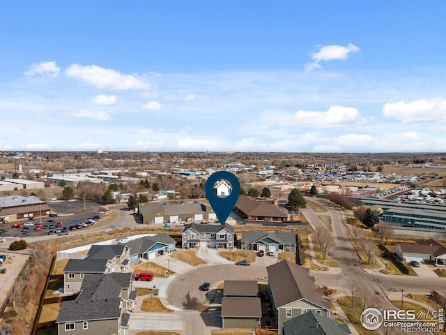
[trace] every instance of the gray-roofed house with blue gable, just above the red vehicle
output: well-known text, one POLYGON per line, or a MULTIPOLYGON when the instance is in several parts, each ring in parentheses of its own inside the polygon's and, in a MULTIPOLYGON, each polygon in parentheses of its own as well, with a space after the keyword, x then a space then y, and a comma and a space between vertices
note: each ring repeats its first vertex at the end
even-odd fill
POLYGON ((152 260, 159 255, 170 253, 175 250, 176 242, 168 234, 162 233, 121 242, 121 244, 128 246, 130 262, 133 263, 141 259, 152 260))

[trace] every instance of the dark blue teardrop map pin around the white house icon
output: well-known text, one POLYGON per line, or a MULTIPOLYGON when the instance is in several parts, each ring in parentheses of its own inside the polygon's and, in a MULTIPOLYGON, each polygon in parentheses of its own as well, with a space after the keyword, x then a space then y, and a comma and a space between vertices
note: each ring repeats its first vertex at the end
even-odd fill
POLYGON ((240 195, 240 182, 238 181, 238 178, 231 172, 217 171, 211 174, 208 181, 206 181, 205 191, 210 206, 215 211, 215 214, 217 214, 220 223, 224 225, 226 218, 228 218, 232 209, 236 205, 238 195, 240 195), (229 181, 232 186, 231 193, 226 197, 219 197, 214 193, 215 182, 222 179, 229 181))

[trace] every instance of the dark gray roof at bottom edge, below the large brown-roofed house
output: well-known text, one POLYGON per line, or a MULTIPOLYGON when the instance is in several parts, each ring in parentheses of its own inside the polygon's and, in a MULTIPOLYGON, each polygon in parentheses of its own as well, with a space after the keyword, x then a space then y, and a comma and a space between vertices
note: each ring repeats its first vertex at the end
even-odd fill
POLYGON ((284 322, 285 335, 347 335, 350 329, 344 323, 309 311, 284 322))

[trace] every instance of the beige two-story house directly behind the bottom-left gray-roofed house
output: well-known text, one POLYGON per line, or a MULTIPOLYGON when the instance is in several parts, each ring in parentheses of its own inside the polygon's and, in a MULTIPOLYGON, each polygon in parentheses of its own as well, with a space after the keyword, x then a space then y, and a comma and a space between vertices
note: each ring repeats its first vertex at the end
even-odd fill
POLYGON ((63 269, 65 293, 75 293, 81 288, 86 274, 112 274, 130 272, 130 253, 127 246, 93 244, 83 260, 70 259, 63 269))

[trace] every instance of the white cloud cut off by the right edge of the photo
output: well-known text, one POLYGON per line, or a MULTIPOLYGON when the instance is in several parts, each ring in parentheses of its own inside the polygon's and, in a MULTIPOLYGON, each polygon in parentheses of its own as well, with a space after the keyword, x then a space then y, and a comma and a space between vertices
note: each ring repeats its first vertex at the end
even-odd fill
POLYGON ((446 99, 420 99, 405 103, 386 103, 385 117, 393 117, 403 123, 419 121, 446 121, 446 99))

